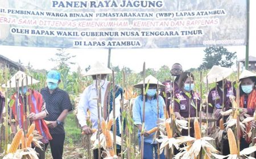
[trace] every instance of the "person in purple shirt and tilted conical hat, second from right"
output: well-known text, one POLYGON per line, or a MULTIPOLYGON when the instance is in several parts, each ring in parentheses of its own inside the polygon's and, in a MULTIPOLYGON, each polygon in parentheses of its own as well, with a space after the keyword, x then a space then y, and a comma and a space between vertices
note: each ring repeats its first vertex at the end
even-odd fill
MULTIPOLYGON (((220 125, 220 119, 222 118, 222 107, 224 107, 224 111, 232 108, 232 102, 229 97, 236 96, 236 90, 233 88, 232 82, 226 80, 226 78, 229 77, 232 72, 233 70, 230 68, 224 68, 214 65, 209 70, 207 77, 204 78, 204 83, 207 83, 208 79, 208 84, 216 82, 217 85, 210 89, 208 93, 208 116, 214 116, 214 118, 217 119, 217 126, 220 125)), ((204 112, 207 112, 207 108, 204 108, 204 112)), ((226 122, 227 118, 228 116, 224 116, 224 123, 226 122)), ((208 129, 208 132, 211 132, 213 127, 211 127, 211 123, 209 125, 210 127, 208 129)), ((229 154, 229 143, 227 139, 222 140, 222 152, 224 155, 227 155, 229 154)), ((217 149, 221 150, 221 148, 218 147, 217 149)))

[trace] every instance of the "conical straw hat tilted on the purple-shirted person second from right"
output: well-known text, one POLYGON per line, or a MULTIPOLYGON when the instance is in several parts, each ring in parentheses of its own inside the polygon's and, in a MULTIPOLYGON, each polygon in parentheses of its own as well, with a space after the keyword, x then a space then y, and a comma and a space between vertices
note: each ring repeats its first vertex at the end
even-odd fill
MULTIPOLYGON (((230 68, 224 68, 221 66, 212 66, 210 71, 207 73, 208 83, 214 83, 222 81, 222 79, 227 78, 230 74, 232 74, 233 70, 230 68)), ((204 83, 207 83, 207 77, 204 77, 204 83)))

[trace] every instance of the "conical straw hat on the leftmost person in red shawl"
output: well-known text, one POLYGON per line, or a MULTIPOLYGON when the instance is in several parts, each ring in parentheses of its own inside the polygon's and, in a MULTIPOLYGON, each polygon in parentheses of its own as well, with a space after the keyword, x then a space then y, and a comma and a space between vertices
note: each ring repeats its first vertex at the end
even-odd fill
MULTIPOLYGON (((22 72, 22 71, 18 71, 14 74, 13 77, 11 77, 11 80, 10 81, 7 81, 7 88, 15 88, 16 87, 16 80, 18 80, 18 84, 19 84, 19 87, 22 86, 22 80, 23 80, 23 86, 26 86, 26 76, 27 74, 22 72), (10 82, 11 82, 11 86, 10 86, 10 82)), ((32 83, 35 84, 35 83, 38 83, 39 81, 38 80, 35 80, 34 78, 32 78, 32 83)), ((28 85, 31 85, 31 76, 27 76, 27 83, 28 85)), ((2 87, 5 87, 5 84, 2 85, 2 87)))

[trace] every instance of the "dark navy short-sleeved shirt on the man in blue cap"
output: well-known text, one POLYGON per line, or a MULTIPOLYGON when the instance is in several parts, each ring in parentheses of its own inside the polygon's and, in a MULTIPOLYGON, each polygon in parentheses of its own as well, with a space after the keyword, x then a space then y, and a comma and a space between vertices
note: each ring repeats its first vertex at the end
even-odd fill
MULTIPOLYGON (((41 94, 43 95, 44 102, 46 103, 46 109, 48 111, 48 116, 46 116, 44 120, 56 121, 61 112, 64 110, 72 110, 72 104, 66 91, 57 88, 52 94, 50 94, 48 87, 46 87, 41 90, 41 94)), ((49 128, 49 132, 51 134, 65 133, 64 127, 61 124, 57 125, 55 128, 49 128)))

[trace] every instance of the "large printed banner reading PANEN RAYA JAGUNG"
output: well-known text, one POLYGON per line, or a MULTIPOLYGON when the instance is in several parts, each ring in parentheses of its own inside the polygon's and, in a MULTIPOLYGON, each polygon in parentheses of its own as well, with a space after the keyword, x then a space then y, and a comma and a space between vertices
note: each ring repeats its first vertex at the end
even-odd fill
POLYGON ((0 0, 0 45, 177 48, 245 44, 244 0, 0 0))

